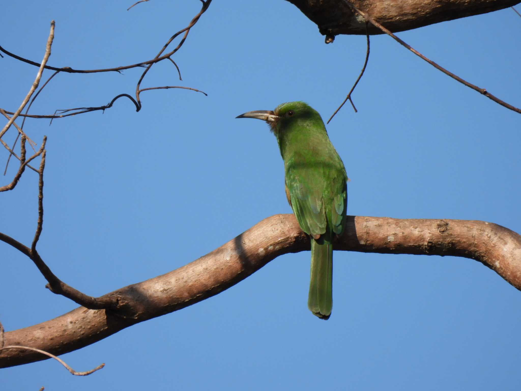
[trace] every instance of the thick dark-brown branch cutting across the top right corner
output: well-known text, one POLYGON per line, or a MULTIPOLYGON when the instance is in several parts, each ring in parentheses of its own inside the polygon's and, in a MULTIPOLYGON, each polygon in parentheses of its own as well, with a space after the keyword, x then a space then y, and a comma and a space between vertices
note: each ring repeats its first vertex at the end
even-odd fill
MULTIPOLYGON (((287 0, 318 26, 322 35, 365 35, 365 21, 342 0, 287 0)), ((417 29, 511 7, 519 0, 348 0, 391 32, 417 29)), ((369 34, 382 34, 373 25, 369 34)))

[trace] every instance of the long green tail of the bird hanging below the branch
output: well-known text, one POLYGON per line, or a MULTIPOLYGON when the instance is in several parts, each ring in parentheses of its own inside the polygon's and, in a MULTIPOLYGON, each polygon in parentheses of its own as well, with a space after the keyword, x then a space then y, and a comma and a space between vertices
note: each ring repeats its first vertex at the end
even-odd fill
POLYGON ((333 308, 333 246, 324 235, 311 238, 311 279, 307 308, 320 319, 328 320, 333 308))

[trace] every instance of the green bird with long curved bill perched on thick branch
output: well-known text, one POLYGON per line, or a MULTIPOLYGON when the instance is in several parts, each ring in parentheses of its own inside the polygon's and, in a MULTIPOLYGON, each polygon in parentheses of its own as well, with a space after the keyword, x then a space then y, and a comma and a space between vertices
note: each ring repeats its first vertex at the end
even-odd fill
POLYGON ((304 102, 237 118, 266 121, 284 161, 286 197, 300 228, 311 238, 311 279, 307 307, 327 320, 333 307, 333 238, 345 229, 348 176, 320 114, 304 102))

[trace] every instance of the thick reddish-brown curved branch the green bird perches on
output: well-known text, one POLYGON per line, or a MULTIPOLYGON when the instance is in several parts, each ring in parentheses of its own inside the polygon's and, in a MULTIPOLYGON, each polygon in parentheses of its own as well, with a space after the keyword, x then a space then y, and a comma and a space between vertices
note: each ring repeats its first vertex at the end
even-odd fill
MULTIPOLYGON (((348 216, 337 250, 455 255, 483 263, 521 290, 521 236, 497 224, 435 219, 348 216)), ((61 355, 123 328, 217 295, 277 256, 309 250, 293 215, 264 219, 225 245, 170 273, 110 292, 117 312, 77 308, 53 320, 5 333, 6 345, 61 355)), ((0 368, 45 359, 28 350, 0 352, 0 368)))

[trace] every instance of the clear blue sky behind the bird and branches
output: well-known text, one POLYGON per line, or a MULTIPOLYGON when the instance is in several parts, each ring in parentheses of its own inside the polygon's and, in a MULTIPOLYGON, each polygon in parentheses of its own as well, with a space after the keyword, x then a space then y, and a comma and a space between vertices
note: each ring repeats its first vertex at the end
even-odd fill
MULTIPOLYGON (((153 58, 200 2, 7 2, 2 46, 48 64, 116 67, 153 58)), ((521 106, 512 9, 399 33, 464 79, 521 106)), ((39 251, 65 282, 98 296, 180 267, 263 218, 291 213, 275 138, 254 109, 303 100, 329 118, 358 76, 365 36, 325 45, 289 2, 214 2, 143 88, 139 113, 26 121, 48 136, 39 251)), ((0 58, 0 107, 14 111, 36 67, 0 58)), ((98 106, 133 94, 140 69, 58 75, 31 108, 98 106)), ((51 71, 44 73, 44 78, 51 71)), ((521 117, 455 82, 388 36, 371 37, 364 77, 328 125, 351 182, 348 214, 489 221, 521 232, 521 117)), ((14 129, 5 137, 14 137, 14 129)), ((0 156, 5 162, 6 154, 0 156)), ((4 163, 1 163, 2 165, 4 163)), ((16 171, 11 163, 2 185, 16 171)), ((0 231, 29 244, 38 178, 1 194, 0 231)), ((5 244, 0 319, 7 331, 76 308, 44 288, 5 244)), ((0 371, 3 389, 519 388, 521 292, 480 263, 446 256, 336 252, 331 319, 308 312, 309 252, 286 254, 221 294, 64 355, 0 371)))

